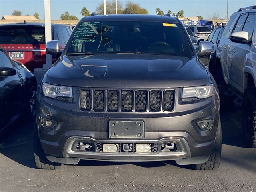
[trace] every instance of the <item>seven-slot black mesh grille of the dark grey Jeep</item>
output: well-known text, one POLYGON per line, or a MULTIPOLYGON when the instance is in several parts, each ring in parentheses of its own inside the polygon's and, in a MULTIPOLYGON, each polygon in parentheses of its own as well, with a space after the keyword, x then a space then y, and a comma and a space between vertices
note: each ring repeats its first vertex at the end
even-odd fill
POLYGON ((174 90, 80 90, 80 109, 95 112, 170 112, 174 90))

